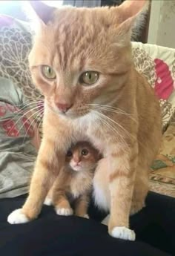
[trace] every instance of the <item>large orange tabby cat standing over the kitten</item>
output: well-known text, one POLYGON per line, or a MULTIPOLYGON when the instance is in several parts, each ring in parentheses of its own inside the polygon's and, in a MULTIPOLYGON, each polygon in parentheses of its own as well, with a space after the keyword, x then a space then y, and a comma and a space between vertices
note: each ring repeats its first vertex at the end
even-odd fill
POLYGON ((161 138, 159 102, 131 54, 131 29, 146 1, 60 9, 30 2, 39 23, 29 61, 44 95, 43 139, 29 197, 8 222, 38 217, 71 142, 90 140, 104 156, 93 187, 96 204, 110 210, 108 232, 134 240, 129 214, 145 206, 161 138))

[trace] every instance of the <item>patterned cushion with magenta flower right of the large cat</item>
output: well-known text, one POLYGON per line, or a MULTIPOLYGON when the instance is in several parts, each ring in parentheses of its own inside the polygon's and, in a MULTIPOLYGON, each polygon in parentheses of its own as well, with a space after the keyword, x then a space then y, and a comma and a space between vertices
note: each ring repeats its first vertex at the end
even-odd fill
POLYGON ((150 82, 162 107, 163 131, 175 113, 175 49, 133 42, 136 69, 150 82))

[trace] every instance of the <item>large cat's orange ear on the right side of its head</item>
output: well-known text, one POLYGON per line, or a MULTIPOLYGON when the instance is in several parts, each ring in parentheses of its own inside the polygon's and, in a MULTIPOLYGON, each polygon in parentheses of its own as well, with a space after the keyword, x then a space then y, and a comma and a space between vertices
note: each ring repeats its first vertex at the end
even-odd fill
POLYGON ((119 44, 125 46, 131 41, 132 28, 140 13, 148 10, 149 0, 125 0, 117 7, 120 14, 120 24, 117 27, 119 44))

